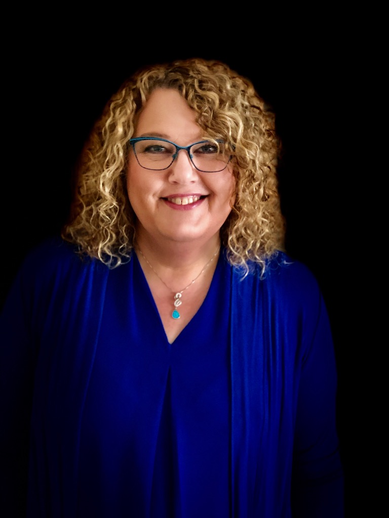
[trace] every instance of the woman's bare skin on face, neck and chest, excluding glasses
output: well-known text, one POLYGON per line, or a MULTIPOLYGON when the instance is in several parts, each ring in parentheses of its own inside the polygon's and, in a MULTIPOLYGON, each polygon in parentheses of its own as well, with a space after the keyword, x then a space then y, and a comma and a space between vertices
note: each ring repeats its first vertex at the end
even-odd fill
MULTIPOLYGON (((196 113, 170 89, 151 93, 134 134, 142 136, 165 138, 179 146, 206 137, 196 123, 196 113)), ((141 167, 130 151, 127 191, 137 217, 137 246, 160 278, 137 255, 171 343, 201 306, 212 281, 217 257, 185 291, 182 318, 172 319, 172 292, 195 279, 219 247, 220 227, 234 199, 232 166, 214 173, 200 172, 182 150, 168 169, 154 171, 141 167)))

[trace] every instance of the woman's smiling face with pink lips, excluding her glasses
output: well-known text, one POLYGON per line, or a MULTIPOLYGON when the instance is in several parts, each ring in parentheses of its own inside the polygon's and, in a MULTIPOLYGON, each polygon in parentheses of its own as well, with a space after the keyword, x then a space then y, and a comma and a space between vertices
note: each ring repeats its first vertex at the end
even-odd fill
MULTIPOLYGON (((151 93, 140 113, 134 137, 159 137, 189 146, 204 135, 196 113, 175 90, 151 93)), ((141 167, 131 148, 127 190, 137 216, 137 236, 202 243, 215 239, 231 211, 235 179, 232 166, 218 172, 198 171, 180 150, 173 164, 155 171, 141 167)))

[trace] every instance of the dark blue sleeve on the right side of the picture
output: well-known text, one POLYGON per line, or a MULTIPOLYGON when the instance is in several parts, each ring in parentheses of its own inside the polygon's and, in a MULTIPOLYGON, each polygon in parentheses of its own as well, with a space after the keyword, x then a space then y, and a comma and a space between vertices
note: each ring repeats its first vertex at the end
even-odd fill
MULTIPOLYGON (((336 427, 337 372, 324 300, 299 384, 291 503, 298 518, 343 518, 343 470, 336 427)), ((312 308, 310 308, 312 309, 312 308)), ((312 313, 309 312, 312 319, 312 313)), ((312 324, 312 323, 311 323, 312 324)))

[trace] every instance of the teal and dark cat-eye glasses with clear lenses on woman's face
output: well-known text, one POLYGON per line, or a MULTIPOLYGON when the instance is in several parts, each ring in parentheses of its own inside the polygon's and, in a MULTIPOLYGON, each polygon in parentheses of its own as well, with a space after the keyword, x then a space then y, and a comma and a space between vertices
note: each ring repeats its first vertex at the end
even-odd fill
POLYGON ((137 137, 129 140, 138 164, 144 169, 163 171, 177 158, 178 151, 185 150, 193 166, 201 172, 223 171, 232 155, 223 140, 200 140, 190 146, 177 146, 170 140, 154 137, 137 137))

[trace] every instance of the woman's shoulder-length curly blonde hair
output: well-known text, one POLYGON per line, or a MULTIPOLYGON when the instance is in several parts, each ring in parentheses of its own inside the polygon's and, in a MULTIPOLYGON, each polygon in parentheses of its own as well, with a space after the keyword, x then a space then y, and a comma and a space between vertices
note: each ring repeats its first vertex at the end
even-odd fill
POLYGON ((62 237, 110 268, 131 257, 136 216, 126 170, 138 113, 156 88, 177 90, 210 138, 231 145, 236 196, 220 230, 231 264, 247 273, 249 261, 265 270, 284 247, 277 190, 280 142, 274 114, 251 81, 219 61, 188 59, 146 67, 125 81, 95 123, 80 156, 70 219, 62 237))

